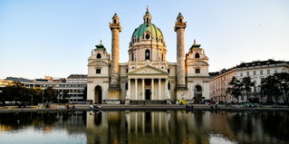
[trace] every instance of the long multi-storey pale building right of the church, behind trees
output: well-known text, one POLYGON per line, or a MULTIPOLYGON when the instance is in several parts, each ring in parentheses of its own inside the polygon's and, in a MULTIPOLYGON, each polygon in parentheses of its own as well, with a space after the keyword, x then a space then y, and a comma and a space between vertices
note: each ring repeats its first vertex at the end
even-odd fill
MULTIPOLYGON (((228 83, 232 81, 234 76, 238 80, 250 76, 252 81, 255 82, 255 87, 252 88, 250 94, 251 96, 254 95, 258 97, 262 79, 278 72, 289 72, 289 62, 271 59, 267 61, 242 62, 231 69, 224 69, 221 72, 212 73, 213 78, 210 80, 210 98, 214 101, 237 101, 231 95, 226 94, 226 88, 229 87, 228 83)), ((261 99, 260 96, 258 98, 259 100, 261 99)), ((239 96, 238 101, 247 101, 247 99, 249 98, 246 98, 246 95, 239 96)))

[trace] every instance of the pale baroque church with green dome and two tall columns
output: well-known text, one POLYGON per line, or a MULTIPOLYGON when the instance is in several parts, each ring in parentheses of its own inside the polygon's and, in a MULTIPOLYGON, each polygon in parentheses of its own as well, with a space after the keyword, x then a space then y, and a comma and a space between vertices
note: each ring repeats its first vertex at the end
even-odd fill
MULTIPOLYGON (((177 62, 167 61, 165 37, 152 24, 149 9, 143 24, 134 30, 129 44, 129 62, 119 62, 120 18, 112 16, 111 54, 102 43, 88 59, 87 100, 93 103, 170 104, 199 103, 209 99, 208 58, 196 41, 185 53, 187 22, 178 14, 177 62)), ((121 51, 126 48, 121 48, 121 51)))

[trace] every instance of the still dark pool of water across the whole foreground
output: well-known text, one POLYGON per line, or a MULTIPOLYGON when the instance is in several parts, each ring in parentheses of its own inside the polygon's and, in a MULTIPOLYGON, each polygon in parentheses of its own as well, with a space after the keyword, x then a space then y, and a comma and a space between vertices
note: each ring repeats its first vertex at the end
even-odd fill
POLYGON ((0 113, 0 143, 288 144, 288 112, 0 113))

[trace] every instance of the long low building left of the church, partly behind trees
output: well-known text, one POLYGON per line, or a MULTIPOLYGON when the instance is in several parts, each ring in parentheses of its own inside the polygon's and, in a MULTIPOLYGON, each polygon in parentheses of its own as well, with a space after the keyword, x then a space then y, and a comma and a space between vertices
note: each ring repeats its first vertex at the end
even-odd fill
POLYGON ((45 76, 44 79, 28 80, 24 78, 7 77, 0 80, 0 87, 20 82, 24 87, 44 90, 52 87, 57 91, 58 101, 66 99, 70 103, 85 103, 87 89, 87 75, 71 74, 65 78, 45 76))

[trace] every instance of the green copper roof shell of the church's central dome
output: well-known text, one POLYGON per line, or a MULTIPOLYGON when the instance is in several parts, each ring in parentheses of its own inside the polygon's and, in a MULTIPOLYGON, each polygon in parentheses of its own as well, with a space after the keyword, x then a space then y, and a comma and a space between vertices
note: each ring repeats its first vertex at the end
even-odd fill
POLYGON ((140 24, 140 26, 134 30, 132 38, 135 37, 135 39, 139 41, 141 36, 145 36, 144 34, 146 32, 149 32, 149 37, 154 37, 156 40, 163 37, 161 31, 155 24, 140 24))

